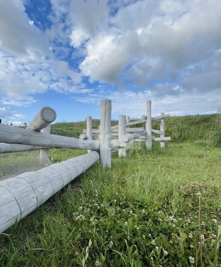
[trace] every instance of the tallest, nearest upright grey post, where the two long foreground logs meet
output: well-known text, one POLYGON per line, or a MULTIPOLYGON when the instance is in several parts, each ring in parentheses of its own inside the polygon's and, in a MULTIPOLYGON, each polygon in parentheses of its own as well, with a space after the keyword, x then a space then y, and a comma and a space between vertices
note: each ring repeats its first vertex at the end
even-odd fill
POLYGON ((100 163, 111 167, 111 100, 101 100, 100 163))

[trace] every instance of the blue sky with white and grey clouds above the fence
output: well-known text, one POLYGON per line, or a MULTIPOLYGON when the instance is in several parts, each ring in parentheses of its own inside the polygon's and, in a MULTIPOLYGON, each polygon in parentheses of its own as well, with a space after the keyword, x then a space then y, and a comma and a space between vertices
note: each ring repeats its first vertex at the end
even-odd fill
POLYGON ((215 112, 220 0, 0 0, 0 119, 215 112))

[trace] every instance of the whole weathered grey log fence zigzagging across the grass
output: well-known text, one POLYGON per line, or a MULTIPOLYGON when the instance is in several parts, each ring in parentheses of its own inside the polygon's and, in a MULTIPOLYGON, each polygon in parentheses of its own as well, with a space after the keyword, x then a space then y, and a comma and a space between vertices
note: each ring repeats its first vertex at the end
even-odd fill
POLYGON ((147 115, 143 115, 142 120, 130 121, 125 115, 111 120, 111 100, 101 100, 101 118, 88 116, 87 129, 79 139, 50 134, 50 123, 56 118, 55 110, 50 107, 42 107, 26 129, 0 124, 0 153, 40 150, 40 157, 49 157, 50 148, 88 150, 86 155, 0 181, 0 232, 31 213, 96 161, 100 160, 100 164, 110 168, 114 148, 118 149, 119 157, 126 156, 126 149, 133 142, 146 142, 147 148, 151 149, 152 141, 160 141, 164 148, 165 141, 171 140, 165 137, 165 118, 170 114, 151 117, 151 101, 146 104, 147 115), (152 121, 160 123, 160 130, 152 128, 152 121), (100 122, 98 129, 93 129, 93 122, 100 122), (111 123, 118 125, 111 126, 111 123), (140 123, 145 123, 145 128, 132 127, 140 123), (152 133, 160 137, 152 136, 152 133), (95 134, 98 134, 98 140, 93 140, 95 134), (118 139, 111 140, 111 136, 118 139))

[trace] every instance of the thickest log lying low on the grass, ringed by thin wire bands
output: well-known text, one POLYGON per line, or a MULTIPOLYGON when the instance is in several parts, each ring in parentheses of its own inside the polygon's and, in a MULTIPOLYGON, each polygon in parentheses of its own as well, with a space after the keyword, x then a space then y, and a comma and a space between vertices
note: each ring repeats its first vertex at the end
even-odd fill
POLYGON ((33 212, 97 160, 99 153, 93 151, 0 181, 0 233, 33 212))

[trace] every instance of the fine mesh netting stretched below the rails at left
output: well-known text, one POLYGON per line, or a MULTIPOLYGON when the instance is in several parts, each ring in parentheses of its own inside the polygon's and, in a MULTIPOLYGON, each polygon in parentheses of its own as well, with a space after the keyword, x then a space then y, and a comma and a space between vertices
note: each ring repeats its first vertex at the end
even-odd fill
POLYGON ((51 165, 49 158, 40 150, 0 153, 0 180, 26 171, 37 171, 51 165))

